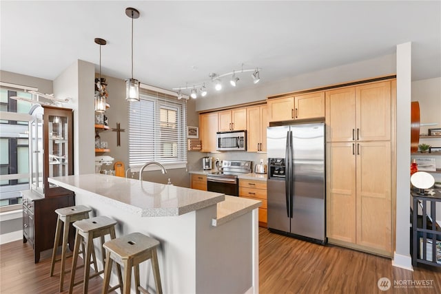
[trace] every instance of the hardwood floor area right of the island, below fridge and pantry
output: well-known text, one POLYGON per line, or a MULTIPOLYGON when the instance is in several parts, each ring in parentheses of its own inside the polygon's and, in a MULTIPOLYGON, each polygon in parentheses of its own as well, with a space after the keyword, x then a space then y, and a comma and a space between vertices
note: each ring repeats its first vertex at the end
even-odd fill
POLYGON ((340 246, 322 246, 259 228, 260 293, 441 293, 441 268, 407 271, 391 260, 340 246), (377 283, 391 281, 388 291, 377 283), (403 286, 427 281, 429 287, 403 286), (394 288, 393 283, 400 283, 394 288))

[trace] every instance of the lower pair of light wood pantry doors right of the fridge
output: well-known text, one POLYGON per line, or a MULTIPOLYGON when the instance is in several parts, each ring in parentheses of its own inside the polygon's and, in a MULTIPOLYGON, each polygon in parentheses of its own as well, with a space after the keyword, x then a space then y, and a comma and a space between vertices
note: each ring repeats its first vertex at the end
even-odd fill
POLYGON ((391 256, 391 143, 327 144, 329 242, 391 256))

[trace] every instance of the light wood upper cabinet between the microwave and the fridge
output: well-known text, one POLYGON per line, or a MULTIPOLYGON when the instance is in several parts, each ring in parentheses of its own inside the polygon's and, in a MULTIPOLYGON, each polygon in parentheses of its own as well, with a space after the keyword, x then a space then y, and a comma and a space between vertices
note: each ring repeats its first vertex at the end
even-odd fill
POLYGON ((247 107, 247 151, 267 151, 267 105, 247 107))

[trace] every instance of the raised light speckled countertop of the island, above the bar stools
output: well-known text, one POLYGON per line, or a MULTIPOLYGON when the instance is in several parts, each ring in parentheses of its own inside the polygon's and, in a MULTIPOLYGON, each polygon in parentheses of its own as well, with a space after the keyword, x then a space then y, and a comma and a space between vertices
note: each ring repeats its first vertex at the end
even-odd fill
POLYGON ((143 217, 181 216, 225 200, 222 193, 105 174, 62 176, 48 181, 74 192, 86 191, 90 197, 102 198, 107 204, 143 217))

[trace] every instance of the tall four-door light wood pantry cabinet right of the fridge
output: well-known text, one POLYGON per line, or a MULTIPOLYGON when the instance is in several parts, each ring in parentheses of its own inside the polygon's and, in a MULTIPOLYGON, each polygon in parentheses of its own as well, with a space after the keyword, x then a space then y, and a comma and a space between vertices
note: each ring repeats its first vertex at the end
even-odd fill
POLYGON ((325 92, 329 242, 391 256, 396 80, 325 92))

